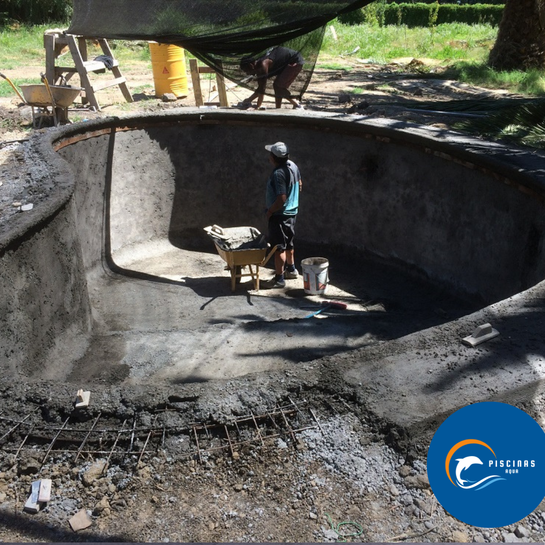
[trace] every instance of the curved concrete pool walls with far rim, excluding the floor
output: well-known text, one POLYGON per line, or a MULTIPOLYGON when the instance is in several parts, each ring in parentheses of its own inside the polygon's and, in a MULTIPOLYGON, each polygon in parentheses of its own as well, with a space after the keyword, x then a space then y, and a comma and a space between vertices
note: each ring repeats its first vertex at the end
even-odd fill
POLYGON ((127 249, 198 247, 210 223, 261 225, 263 147, 278 140, 304 174, 305 240, 371 252, 483 306, 545 277, 537 153, 355 116, 96 120, 32 138, 50 190, 0 240, 2 369, 54 377, 81 356, 95 323, 88 284, 119 272, 127 249))

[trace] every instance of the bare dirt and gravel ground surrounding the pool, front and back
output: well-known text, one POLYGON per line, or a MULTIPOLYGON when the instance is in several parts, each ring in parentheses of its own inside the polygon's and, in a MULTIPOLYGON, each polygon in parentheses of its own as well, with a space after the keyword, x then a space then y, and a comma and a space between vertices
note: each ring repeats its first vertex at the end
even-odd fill
MULTIPOLYGON (((423 77, 420 66, 411 59, 389 66, 354 59, 348 73, 317 70, 303 104, 308 110, 391 117, 448 128, 452 117, 411 111, 404 103, 498 93, 441 79, 440 67, 433 77, 423 77)), ((191 90, 187 98, 174 102, 156 99, 153 78, 144 68, 142 64, 124 70, 129 89, 143 88, 135 93, 135 102, 126 103, 117 88, 106 89, 98 95, 100 112, 75 106, 69 119, 84 122, 195 105, 191 90)), ((43 68, 36 66, 7 75, 28 77, 40 71, 43 68)), ((236 103, 247 94, 233 88, 229 100, 236 103)), ((272 107, 270 98, 265 106, 272 107)), ((26 184, 25 143, 10 142, 25 140, 31 124, 28 106, 20 106, 16 98, 0 99, 0 229, 9 229, 10 217, 23 213, 13 203, 35 202, 41 195, 39 188, 26 184)), ((305 370, 313 373, 312 361, 306 362, 305 370)), ((544 504, 519 523, 500 529, 475 528, 451 517, 429 488, 425 441, 400 439, 399 431, 366 411, 364 390, 360 394, 345 390, 336 384, 335 369, 326 371, 329 376, 313 385, 301 382, 289 370, 227 380, 217 386, 196 385, 192 395, 169 397, 167 406, 154 405, 153 393, 139 401, 134 391, 119 388, 115 399, 106 399, 104 393, 104 409, 99 414, 81 413, 84 429, 100 417, 98 427, 109 430, 107 433, 100 439, 91 436, 81 452, 77 451, 85 443, 81 434, 77 441, 64 438, 62 449, 51 449, 46 460, 45 446, 69 416, 62 399, 71 396, 72 387, 32 380, 0 383, 4 398, 0 408, 0 540, 543 541, 544 504), (280 425, 285 418, 282 414, 275 416, 279 419, 275 423, 263 409, 252 413, 257 420, 252 429, 261 430, 257 436, 249 432, 253 423, 232 422, 227 434, 240 445, 206 450, 217 444, 214 434, 220 431, 210 430, 210 438, 205 430, 204 435, 199 432, 202 452, 198 446, 198 454, 193 452, 197 432, 191 423, 210 421, 212 416, 221 421, 216 415, 220 409, 210 403, 221 405, 226 399, 234 403, 235 399, 240 407, 234 414, 242 419, 245 406, 258 404, 256 399, 263 407, 274 406, 280 391, 290 392, 287 397, 283 394, 286 415, 294 419, 289 420, 288 428, 280 425), (33 407, 38 416, 31 416, 26 426, 17 424, 33 407), (13 420, 2 420, 2 415, 13 420), (130 444, 128 435, 121 433, 126 426, 133 429, 130 444), (278 428, 283 432, 275 435, 278 428), (253 439, 244 443, 250 435, 253 439), (108 460, 108 454, 116 450, 115 437, 123 437, 120 446, 127 454, 108 460), (19 453, 22 443, 35 448, 37 454, 26 449, 19 453), (103 454, 87 454, 88 449, 103 454), (141 451, 146 451, 142 457, 141 451), (31 482, 46 478, 52 479, 51 501, 36 514, 23 512, 31 482), (74 532, 68 521, 81 510, 87 513, 90 525, 74 532)))

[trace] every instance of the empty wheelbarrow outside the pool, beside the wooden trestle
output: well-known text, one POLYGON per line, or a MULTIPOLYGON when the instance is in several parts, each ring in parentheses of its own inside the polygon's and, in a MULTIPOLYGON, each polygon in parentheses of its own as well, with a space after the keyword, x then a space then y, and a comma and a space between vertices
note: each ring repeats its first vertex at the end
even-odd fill
POLYGON ((38 126, 41 126, 41 118, 43 117, 53 117, 55 126, 59 124, 59 119, 67 120, 68 107, 83 90, 81 87, 50 85, 46 77, 42 74, 42 81, 44 83, 27 83, 21 85, 21 95, 9 77, 1 72, 0 77, 3 77, 10 84, 17 96, 26 105, 32 107, 32 124, 34 127, 37 125, 38 119, 38 126), (34 108, 38 108, 38 111, 35 112, 34 108), (51 113, 49 113, 48 108, 52 108, 51 113))

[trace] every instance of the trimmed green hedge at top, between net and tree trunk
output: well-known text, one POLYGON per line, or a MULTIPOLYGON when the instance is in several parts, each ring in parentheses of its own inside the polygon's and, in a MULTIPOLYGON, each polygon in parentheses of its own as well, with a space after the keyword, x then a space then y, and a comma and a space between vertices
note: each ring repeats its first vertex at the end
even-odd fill
POLYGON ((380 25, 407 25, 408 27, 429 27, 441 23, 487 23, 498 26, 503 13, 503 5, 493 4, 426 4, 403 3, 372 5, 340 15, 338 20, 345 25, 361 25, 365 22, 378 22, 380 25), (371 8, 371 9, 370 9, 371 8), (437 13, 437 19, 434 14, 437 13))

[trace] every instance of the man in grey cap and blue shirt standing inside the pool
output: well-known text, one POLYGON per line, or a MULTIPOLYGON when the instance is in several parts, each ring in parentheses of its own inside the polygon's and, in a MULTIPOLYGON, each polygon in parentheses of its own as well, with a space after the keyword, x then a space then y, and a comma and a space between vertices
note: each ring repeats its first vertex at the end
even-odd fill
POLYGON ((286 144, 276 142, 265 149, 274 166, 267 180, 265 216, 269 220, 269 243, 271 246, 278 244, 278 249, 274 255, 275 277, 263 284, 265 288, 284 288, 286 279, 299 276, 295 269, 293 238, 302 181, 299 168, 289 160, 286 144))

